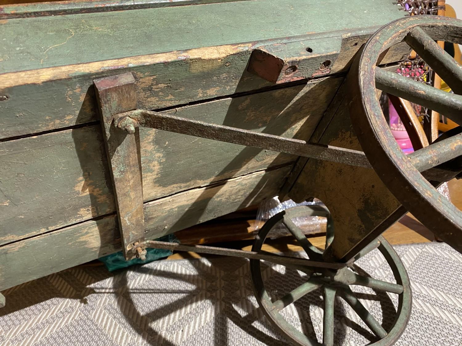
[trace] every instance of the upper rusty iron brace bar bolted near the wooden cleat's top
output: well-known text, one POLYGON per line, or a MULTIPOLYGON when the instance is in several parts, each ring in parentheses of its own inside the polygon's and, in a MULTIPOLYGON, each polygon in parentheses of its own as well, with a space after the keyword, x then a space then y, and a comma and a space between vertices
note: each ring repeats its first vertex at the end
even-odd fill
POLYGON ((131 125, 150 127, 280 153, 371 168, 371 164, 362 151, 318 143, 307 143, 299 139, 280 137, 225 125, 209 124, 203 121, 180 118, 144 109, 117 114, 114 121, 117 127, 126 130, 131 129, 131 125), (128 118, 133 119, 134 122, 130 123, 128 118))

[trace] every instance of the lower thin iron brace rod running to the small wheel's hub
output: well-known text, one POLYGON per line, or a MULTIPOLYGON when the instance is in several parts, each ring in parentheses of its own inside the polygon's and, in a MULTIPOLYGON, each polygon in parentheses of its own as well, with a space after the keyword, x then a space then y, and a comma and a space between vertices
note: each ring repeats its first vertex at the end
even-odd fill
POLYGON ((178 243, 169 243, 158 240, 145 240, 142 243, 145 247, 152 247, 156 249, 164 249, 171 251, 191 251, 197 253, 206 253, 210 255, 220 256, 231 256, 231 257, 243 257, 250 259, 259 259, 277 264, 297 264, 304 267, 312 268, 328 268, 328 269, 341 269, 346 266, 346 263, 338 262, 324 262, 324 261, 312 261, 305 258, 288 257, 283 255, 273 255, 269 253, 261 253, 256 251, 244 251, 236 249, 226 249, 215 246, 204 246, 204 245, 185 245, 178 243))

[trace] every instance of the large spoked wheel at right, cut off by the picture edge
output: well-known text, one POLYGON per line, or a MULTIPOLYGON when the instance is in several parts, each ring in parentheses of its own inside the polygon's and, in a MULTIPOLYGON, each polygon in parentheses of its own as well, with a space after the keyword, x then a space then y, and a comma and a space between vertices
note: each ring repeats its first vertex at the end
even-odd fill
POLYGON ((378 101, 377 89, 462 124, 462 68, 435 40, 462 43, 462 21, 414 16, 378 30, 348 75, 350 114, 359 142, 384 184, 419 221, 462 252, 462 212, 435 188, 462 171, 461 128, 406 156, 391 134, 378 101), (455 94, 379 67, 383 52, 399 42, 413 48, 455 94))

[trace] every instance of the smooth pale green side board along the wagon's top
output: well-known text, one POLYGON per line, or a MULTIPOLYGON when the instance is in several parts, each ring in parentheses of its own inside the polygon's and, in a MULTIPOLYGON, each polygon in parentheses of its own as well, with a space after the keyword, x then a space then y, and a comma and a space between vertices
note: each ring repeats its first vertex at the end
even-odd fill
POLYGON ((390 0, 253 0, 8 19, 0 72, 375 27, 402 16, 390 0))

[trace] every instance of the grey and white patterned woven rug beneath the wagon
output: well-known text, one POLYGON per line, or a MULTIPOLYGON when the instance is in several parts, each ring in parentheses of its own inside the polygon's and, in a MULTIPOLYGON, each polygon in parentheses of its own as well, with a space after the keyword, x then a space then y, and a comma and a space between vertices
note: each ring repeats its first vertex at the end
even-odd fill
MULTIPOLYGON (((462 345, 462 255, 437 243, 395 249, 413 289, 412 315, 396 345, 462 345)), ((359 265, 377 279, 390 279, 377 250, 359 265)), ((283 293, 304 279, 279 266, 266 266, 263 276, 273 292, 283 293)), ((393 321, 396 296, 354 291, 359 298, 375 295, 372 302, 362 301, 385 328, 393 321)), ((158 261, 113 274, 104 267, 77 267, 3 293, 2 346, 287 344, 257 309, 244 259, 158 261)), ((283 310, 288 321, 318 340, 321 294, 312 292, 283 310)), ((336 345, 375 340, 341 298, 335 301, 335 317, 336 345)))

